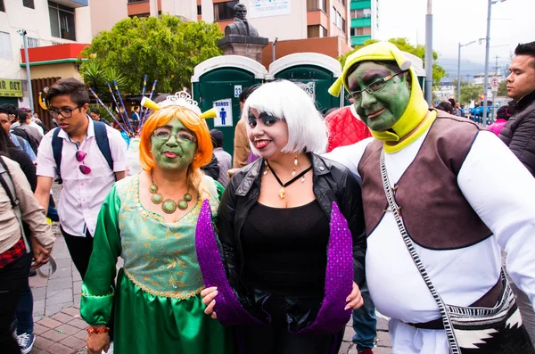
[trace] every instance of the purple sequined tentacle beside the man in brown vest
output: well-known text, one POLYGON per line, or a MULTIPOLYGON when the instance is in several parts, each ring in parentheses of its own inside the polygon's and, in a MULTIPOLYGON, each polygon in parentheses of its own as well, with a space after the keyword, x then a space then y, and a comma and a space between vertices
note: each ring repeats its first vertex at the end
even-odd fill
POLYGON ((348 323, 351 309, 344 309, 353 287, 353 239, 347 220, 335 202, 331 211, 331 236, 325 271, 325 298, 316 321, 296 333, 338 333, 348 323))

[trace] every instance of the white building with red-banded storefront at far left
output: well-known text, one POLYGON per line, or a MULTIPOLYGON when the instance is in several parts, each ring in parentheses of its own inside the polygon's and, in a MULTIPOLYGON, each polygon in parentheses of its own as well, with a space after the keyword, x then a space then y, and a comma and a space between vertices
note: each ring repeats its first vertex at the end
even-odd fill
MULTIPOLYGON (((29 48, 30 77, 57 78, 78 74, 79 51, 56 51, 56 45, 90 43, 90 27, 87 0, 0 0, 0 87, 5 87, 0 104, 30 102, 22 35, 29 48), (42 54, 36 57, 36 50, 42 54)), ((37 95, 34 92, 34 98, 37 95)))

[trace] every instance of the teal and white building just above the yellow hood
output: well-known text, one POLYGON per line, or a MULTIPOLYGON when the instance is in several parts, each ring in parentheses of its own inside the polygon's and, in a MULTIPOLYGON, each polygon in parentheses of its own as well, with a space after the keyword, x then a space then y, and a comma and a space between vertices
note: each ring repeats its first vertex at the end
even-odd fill
POLYGON ((351 46, 375 39, 379 29, 379 0, 351 0, 350 19, 351 46))

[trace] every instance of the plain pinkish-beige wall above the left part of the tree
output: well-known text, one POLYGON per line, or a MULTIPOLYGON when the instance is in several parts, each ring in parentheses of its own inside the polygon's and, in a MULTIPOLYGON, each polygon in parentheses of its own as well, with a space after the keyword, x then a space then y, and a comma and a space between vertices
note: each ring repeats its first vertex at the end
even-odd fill
POLYGON ((128 17, 126 0, 89 0, 91 35, 110 30, 117 22, 128 17))

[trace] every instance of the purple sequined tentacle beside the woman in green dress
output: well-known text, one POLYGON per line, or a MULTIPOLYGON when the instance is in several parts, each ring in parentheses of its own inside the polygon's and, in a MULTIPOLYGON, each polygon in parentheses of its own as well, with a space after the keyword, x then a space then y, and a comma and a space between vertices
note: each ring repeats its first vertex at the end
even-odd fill
POLYGON ((219 322, 222 325, 262 325, 263 323, 258 318, 251 316, 246 309, 243 309, 228 283, 225 268, 219 255, 218 243, 216 243, 214 236, 208 200, 202 203, 195 230, 195 245, 204 286, 207 288, 210 286, 218 287, 219 293, 216 296, 214 311, 218 314, 219 322))

